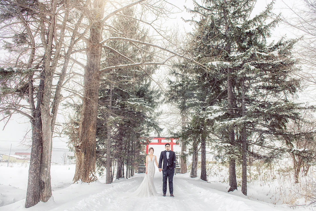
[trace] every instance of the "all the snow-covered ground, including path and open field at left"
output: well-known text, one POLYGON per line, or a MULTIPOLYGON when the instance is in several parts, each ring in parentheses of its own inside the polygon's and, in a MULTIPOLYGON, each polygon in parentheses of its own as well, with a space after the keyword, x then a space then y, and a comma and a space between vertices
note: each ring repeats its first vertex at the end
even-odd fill
MULTIPOLYGON (((144 174, 105 184, 98 182, 71 184, 74 165, 52 165, 53 198, 31 208, 24 208, 28 166, 0 166, 0 210, 293 210, 286 205, 272 205, 247 199, 240 191, 226 192, 225 184, 192 179, 189 174, 174 177, 174 195, 149 198, 134 197, 144 174), (3 206, 4 205, 4 206, 3 206)), ((161 173, 155 173, 155 186, 161 192, 161 173)), ((299 208, 296 210, 313 210, 299 208)))

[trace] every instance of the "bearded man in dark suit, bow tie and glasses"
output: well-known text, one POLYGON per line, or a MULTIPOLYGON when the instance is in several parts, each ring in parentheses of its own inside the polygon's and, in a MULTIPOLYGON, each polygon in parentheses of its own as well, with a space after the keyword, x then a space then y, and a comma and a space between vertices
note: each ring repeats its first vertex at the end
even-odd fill
POLYGON ((167 179, 169 180, 169 193, 173 196, 173 175, 176 168, 176 155, 170 150, 170 144, 165 144, 165 151, 160 153, 159 158, 159 172, 162 170, 162 196, 166 196, 167 193, 167 179), (163 161, 163 164, 162 164, 163 161), (162 168, 161 168, 162 164, 162 168))

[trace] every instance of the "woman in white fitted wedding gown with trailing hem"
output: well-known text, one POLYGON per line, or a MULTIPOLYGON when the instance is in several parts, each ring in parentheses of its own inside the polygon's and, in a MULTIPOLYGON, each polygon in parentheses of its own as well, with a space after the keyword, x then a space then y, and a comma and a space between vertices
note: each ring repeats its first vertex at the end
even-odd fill
POLYGON ((158 167, 158 162, 156 155, 153 155, 154 148, 149 148, 149 155, 146 156, 146 174, 143 182, 139 185, 137 190, 134 192, 134 196, 148 197, 156 196, 157 191, 154 185, 154 175, 155 175, 155 163, 158 167))

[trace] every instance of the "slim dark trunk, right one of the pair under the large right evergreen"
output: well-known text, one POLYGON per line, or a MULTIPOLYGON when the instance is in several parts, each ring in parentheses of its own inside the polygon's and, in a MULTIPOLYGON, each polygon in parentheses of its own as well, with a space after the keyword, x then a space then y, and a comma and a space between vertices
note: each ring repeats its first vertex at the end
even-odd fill
MULTIPOLYGON (((242 116, 246 115, 246 96, 245 96, 245 81, 242 81, 241 87, 241 110, 242 116)), ((241 192, 247 196, 247 137, 246 137, 246 128, 245 126, 241 130, 241 139, 242 139, 242 181, 241 181, 241 192)))

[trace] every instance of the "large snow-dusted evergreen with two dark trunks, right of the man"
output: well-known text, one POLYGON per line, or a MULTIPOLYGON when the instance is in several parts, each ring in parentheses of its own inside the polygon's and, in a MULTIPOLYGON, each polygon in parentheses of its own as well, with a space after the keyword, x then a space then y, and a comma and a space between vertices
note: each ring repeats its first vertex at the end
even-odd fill
POLYGON ((204 58, 205 62, 200 63, 209 67, 209 74, 217 74, 217 79, 226 81, 218 86, 225 86, 222 90, 226 90, 226 95, 219 92, 216 104, 219 107, 209 107, 208 112, 210 117, 219 116, 213 129, 221 137, 218 150, 229 156, 228 191, 237 189, 235 161, 241 154, 245 195, 246 151, 251 136, 259 133, 264 142, 267 138, 264 134, 281 134, 289 118, 298 117, 295 112, 298 105, 288 100, 299 87, 299 81, 291 76, 296 71, 291 57, 295 40, 281 39, 267 44, 266 38, 279 18, 268 22, 272 2, 249 19, 254 3, 252 0, 206 0, 203 6, 195 2, 191 11, 200 16, 199 21, 191 21, 196 24, 194 41, 201 48, 197 59, 204 58))

